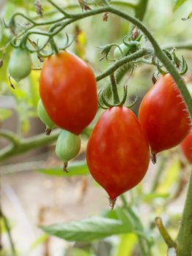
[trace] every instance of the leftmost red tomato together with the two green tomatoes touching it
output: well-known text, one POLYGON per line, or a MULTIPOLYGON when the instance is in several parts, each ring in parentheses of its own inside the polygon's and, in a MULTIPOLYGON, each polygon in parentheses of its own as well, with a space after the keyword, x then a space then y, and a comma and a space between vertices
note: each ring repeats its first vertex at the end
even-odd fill
POLYGON ((46 133, 61 128, 55 154, 64 162, 80 151, 80 133, 91 123, 98 108, 96 78, 91 67, 73 53, 63 51, 45 60, 39 82, 39 118, 46 133))

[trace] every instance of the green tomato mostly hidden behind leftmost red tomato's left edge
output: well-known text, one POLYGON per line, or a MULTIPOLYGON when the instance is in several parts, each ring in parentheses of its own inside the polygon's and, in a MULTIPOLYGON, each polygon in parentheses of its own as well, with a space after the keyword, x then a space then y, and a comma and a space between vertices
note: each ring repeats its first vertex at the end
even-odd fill
POLYGON ((39 99, 38 105, 37 105, 37 114, 41 121, 46 125, 46 134, 50 135, 51 130, 55 127, 55 124, 50 119, 50 117, 47 115, 47 112, 44 108, 44 105, 42 104, 42 100, 39 99))

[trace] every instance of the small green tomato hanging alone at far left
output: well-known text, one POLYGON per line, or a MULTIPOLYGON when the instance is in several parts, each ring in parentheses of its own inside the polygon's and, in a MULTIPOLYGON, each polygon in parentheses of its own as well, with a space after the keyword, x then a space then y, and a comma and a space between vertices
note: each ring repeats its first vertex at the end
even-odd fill
POLYGON ((9 60, 8 72, 15 81, 19 82, 31 72, 31 55, 28 50, 15 48, 9 60))

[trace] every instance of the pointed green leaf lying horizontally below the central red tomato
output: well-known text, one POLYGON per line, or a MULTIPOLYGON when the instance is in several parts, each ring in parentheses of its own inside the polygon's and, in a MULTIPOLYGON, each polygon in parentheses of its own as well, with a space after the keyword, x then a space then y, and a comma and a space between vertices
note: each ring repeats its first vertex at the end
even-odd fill
POLYGON ((41 227, 45 233, 67 241, 93 241, 107 236, 128 233, 130 228, 120 220, 91 217, 69 223, 57 223, 41 227))

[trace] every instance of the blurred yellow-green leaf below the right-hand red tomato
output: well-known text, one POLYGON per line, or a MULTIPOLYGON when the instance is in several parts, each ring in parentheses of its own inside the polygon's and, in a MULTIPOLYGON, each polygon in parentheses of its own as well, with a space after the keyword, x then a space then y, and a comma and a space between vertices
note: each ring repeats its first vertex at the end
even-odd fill
POLYGON ((180 161, 178 159, 173 159, 170 165, 164 171, 165 177, 163 182, 158 185, 157 192, 158 193, 169 193, 172 189, 172 186, 177 181, 178 173, 180 171, 180 161))

